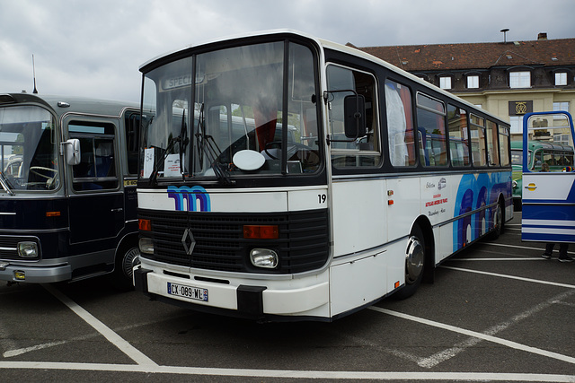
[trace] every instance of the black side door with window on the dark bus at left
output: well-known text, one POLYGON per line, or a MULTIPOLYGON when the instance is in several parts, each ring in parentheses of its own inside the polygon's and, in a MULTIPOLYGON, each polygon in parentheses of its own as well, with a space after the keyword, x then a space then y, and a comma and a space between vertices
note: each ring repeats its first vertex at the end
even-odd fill
MULTIPOLYGON (((74 253, 115 249, 125 222, 118 120, 71 116, 65 131, 67 138, 80 141, 81 161, 68 172, 70 242, 78 245, 74 253)), ((113 262, 113 252, 107 261, 113 262)))

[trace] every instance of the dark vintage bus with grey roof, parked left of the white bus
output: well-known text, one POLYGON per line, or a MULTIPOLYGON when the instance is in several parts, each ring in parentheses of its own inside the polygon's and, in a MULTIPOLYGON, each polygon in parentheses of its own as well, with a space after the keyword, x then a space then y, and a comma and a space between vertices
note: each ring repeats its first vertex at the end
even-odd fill
POLYGON ((137 104, 0 94, 0 281, 132 285, 139 118, 137 104))

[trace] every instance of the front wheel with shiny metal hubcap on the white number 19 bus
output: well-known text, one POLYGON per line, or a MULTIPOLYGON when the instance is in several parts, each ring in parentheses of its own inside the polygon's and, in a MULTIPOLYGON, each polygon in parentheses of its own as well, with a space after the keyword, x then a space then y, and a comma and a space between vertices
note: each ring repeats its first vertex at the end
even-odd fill
POLYGON ((425 239, 419 226, 414 226, 405 250, 405 285, 394 293, 394 298, 404 300, 420 287, 425 266, 425 239))

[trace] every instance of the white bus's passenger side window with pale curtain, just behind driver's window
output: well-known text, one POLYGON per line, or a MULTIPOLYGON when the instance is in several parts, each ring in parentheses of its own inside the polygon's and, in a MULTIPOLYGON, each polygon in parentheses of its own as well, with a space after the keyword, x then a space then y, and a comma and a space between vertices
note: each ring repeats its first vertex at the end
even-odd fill
POLYGON ((415 165, 411 91, 407 86, 391 80, 385 81, 385 114, 392 165, 415 165))

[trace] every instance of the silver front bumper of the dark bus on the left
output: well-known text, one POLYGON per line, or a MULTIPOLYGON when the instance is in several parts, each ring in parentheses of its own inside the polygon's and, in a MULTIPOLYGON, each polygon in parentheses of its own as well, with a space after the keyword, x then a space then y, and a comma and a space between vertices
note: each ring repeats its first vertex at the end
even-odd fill
POLYGON ((72 278, 70 265, 13 265, 0 261, 0 281, 24 283, 55 283, 72 278))

